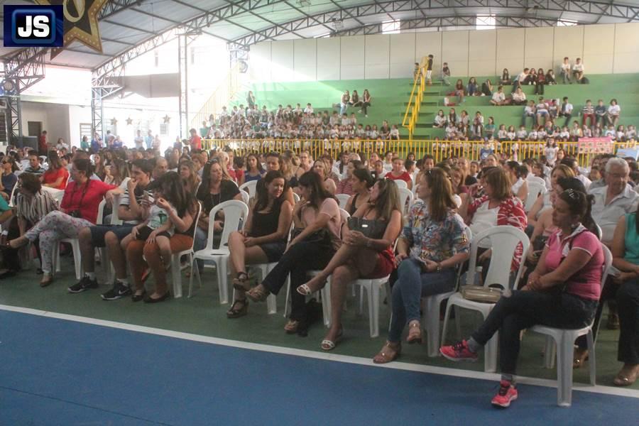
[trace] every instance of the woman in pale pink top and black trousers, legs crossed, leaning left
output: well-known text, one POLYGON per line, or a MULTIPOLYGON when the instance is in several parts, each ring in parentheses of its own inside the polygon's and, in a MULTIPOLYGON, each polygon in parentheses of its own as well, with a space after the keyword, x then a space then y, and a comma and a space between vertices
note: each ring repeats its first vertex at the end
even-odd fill
POLYGON ((297 332, 302 321, 307 320, 305 297, 295 290, 307 280, 307 272, 322 269, 339 248, 339 232, 342 214, 333 195, 323 185, 320 175, 307 172, 300 176, 299 188, 302 200, 295 204, 294 234, 277 266, 266 275, 260 285, 246 292, 253 302, 263 302, 266 297, 278 294, 290 275, 291 312, 285 332, 297 332))

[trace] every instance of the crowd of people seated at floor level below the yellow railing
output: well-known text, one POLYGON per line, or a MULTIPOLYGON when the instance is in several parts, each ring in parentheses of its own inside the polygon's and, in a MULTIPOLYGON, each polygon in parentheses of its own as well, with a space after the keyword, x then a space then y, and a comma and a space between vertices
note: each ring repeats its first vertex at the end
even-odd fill
MULTIPOLYGON (((241 182, 257 181, 249 217, 229 238, 229 284, 236 290, 226 312, 229 319, 248 315, 249 303, 277 295, 288 283, 292 310, 283 327, 289 334, 306 335, 313 314, 305 297, 328 281, 331 297, 323 302, 331 304, 332 325, 320 348, 332 351, 347 332, 343 313, 349 283, 396 273, 388 298, 393 312, 388 339, 373 358, 378 364, 388 363, 400 356, 403 339, 409 344, 422 341, 421 298, 454 288, 456 268, 469 256, 466 228, 477 234, 495 226, 513 226, 527 231, 533 240, 527 253, 515 250, 510 265, 510 271, 516 271, 524 262, 525 279, 515 283, 513 295, 501 298, 469 339, 442 346, 442 354, 454 361, 474 361, 481 346, 499 330, 502 381, 493 405, 505 407, 517 396, 520 331, 534 324, 570 328, 599 322, 608 302, 609 327, 621 329, 623 366, 613 383, 628 386, 639 375, 639 261, 634 252, 639 194, 630 180, 639 167, 630 158, 598 155, 588 170, 553 146, 521 162, 512 153, 504 161, 488 152, 479 161, 456 156, 439 163, 431 155, 415 158, 408 153, 400 158, 393 151, 372 153, 369 158, 344 152, 337 159, 329 154, 312 158, 307 151, 236 155, 231 148, 206 151, 181 145, 164 156, 157 150, 135 148, 105 149, 92 158, 86 151, 72 151, 67 165, 53 153, 46 167, 39 158, 25 163, 17 179, 15 210, 2 210, 2 201, 11 198, 9 188, 16 180, 9 176, 21 163, 21 154, 11 151, 2 162, 1 192, 8 196, 0 197, 0 222, 6 212, 18 217, 16 231, 9 227, 4 259, 16 257, 16 251, 28 243, 38 246, 42 286, 53 283, 55 244, 77 238, 84 276, 67 288, 70 293, 98 288, 94 249, 104 247, 115 277, 102 299, 168 300, 171 256, 191 246, 202 249, 209 224, 215 227, 215 238, 215 231, 224 226, 224 215, 209 221, 211 209, 227 200, 242 202, 241 182), (56 157, 63 168, 70 165, 70 182, 60 203, 43 189, 45 171, 40 171, 53 170, 48 181, 59 187, 63 173, 56 157), (399 180, 415 194, 406 215, 398 202, 399 180), (526 209, 523 201, 533 182, 545 185, 548 195, 539 195, 526 209), (349 195, 344 207, 354 219, 344 221, 339 194, 349 195), (117 200, 112 208, 122 224, 97 224, 102 200, 117 200), (199 205, 202 214, 196 222, 199 205), (603 294, 601 244, 611 247, 620 271, 603 294), (277 266, 259 285, 251 286, 247 268, 265 262, 277 266), (307 272, 312 270, 320 272, 310 277, 307 272), (148 276, 153 285, 145 283, 148 276), (555 288, 562 291, 547 291, 555 288), (403 338, 405 328, 408 334, 403 338)), ((482 273, 488 271, 490 244, 480 246, 479 263, 482 273)), ((588 362, 587 346, 577 344, 574 365, 579 367, 588 362)))

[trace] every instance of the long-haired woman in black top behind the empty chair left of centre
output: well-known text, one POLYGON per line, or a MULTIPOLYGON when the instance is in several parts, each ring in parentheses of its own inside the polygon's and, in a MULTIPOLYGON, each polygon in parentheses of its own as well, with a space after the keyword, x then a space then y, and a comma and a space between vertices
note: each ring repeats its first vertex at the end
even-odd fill
MULTIPOLYGON (((217 204, 229 200, 242 200, 239 188, 231 180, 222 179, 222 165, 217 159, 210 161, 202 171, 202 185, 197 190, 197 200, 202 203, 202 214, 197 222, 195 231, 195 251, 207 246, 209 235, 209 212, 217 204)), ((224 227, 224 212, 220 212, 214 222, 216 232, 222 232, 224 227)), ((200 263, 198 262, 198 265, 200 263)))

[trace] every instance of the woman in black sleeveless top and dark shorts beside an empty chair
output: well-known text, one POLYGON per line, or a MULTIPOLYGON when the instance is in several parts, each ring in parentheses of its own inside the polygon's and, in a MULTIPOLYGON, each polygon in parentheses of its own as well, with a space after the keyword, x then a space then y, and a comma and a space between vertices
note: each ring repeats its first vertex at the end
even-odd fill
POLYGON ((277 262, 286 249, 293 206, 283 196, 285 189, 286 180, 280 171, 266 173, 257 185, 256 201, 251 203, 244 230, 229 236, 235 300, 226 317, 243 317, 249 308, 245 295, 250 288, 246 265, 277 262))

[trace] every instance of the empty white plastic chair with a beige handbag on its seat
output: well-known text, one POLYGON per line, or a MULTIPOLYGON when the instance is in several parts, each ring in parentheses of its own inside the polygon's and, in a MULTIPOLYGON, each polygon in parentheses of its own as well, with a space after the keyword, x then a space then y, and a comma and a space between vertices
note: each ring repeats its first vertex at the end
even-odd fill
MULTIPOLYGON (((517 275, 515 275, 515 283, 518 283, 519 278, 523 271, 524 256, 528 252, 528 246, 530 246, 530 240, 528 236, 515 226, 501 225, 495 226, 485 231, 481 231, 474 236, 471 241, 471 251, 469 258, 468 273, 466 273, 466 284, 473 285, 475 283, 476 262, 477 262, 477 249, 479 247, 479 241, 489 238, 491 241, 491 265, 488 268, 486 280, 484 286, 488 287, 491 284, 500 284, 504 288, 504 294, 510 295, 510 263, 515 256, 515 249, 519 244, 523 246, 523 256, 520 258, 519 268, 517 275)), ((450 310, 452 307, 459 306, 469 310, 476 310, 481 312, 484 316, 484 320, 491 312, 494 303, 482 303, 474 302, 473 300, 467 300, 461 295, 461 292, 457 292, 450 296, 448 299, 448 305, 446 307, 446 315, 444 316, 444 334, 442 335, 442 344, 446 342, 446 332, 448 328, 448 319, 450 310)), ((459 310, 455 310, 455 318, 457 321, 459 310)), ((498 344, 498 332, 488 340, 488 343, 484 349, 484 371, 487 373, 494 373, 497 371, 497 344, 498 344)))

